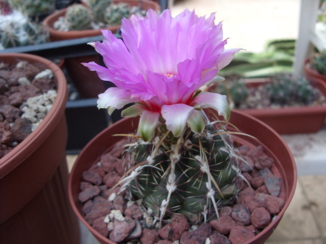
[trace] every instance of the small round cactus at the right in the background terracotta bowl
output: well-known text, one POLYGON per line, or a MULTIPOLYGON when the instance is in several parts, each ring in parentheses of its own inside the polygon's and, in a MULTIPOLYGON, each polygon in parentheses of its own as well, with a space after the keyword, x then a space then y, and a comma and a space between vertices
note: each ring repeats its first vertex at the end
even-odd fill
POLYGON ((122 18, 130 16, 130 6, 126 3, 111 4, 105 10, 105 22, 108 25, 120 25, 122 18))

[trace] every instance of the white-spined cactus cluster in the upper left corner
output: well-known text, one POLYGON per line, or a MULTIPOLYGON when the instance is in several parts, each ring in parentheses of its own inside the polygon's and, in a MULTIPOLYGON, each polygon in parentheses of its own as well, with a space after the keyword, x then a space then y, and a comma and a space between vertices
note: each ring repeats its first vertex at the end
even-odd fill
POLYGON ((48 41, 49 34, 38 23, 17 10, 7 2, 0 1, 0 49, 40 44, 48 41))

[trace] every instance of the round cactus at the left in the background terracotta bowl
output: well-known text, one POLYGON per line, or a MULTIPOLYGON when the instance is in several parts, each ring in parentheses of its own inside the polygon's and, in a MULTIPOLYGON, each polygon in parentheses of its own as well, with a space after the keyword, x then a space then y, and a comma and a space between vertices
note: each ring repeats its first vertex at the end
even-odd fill
POLYGON ((73 4, 67 9, 65 21, 69 31, 91 29, 92 12, 84 5, 73 4))

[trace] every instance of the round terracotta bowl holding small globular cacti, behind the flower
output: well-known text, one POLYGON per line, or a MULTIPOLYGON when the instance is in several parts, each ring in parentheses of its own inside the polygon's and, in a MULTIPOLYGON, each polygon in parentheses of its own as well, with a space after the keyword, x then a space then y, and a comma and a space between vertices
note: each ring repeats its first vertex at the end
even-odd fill
MULTIPOLYGON (((114 3, 128 3, 131 6, 138 6, 139 1, 138 0, 114 0, 114 3)), ((160 6, 153 1, 150 0, 143 0, 143 9, 153 9, 155 11, 160 11, 160 6)), ((50 40, 51 41, 61 41, 61 40, 69 40, 69 39, 75 39, 75 38, 83 38, 83 37, 93 37, 93 36, 100 36, 101 31, 100 29, 88 29, 85 31, 58 31, 56 29, 53 29, 53 24, 59 19, 59 17, 65 16, 67 11, 67 8, 59 10, 58 12, 55 12, 49 16, 47 16, 43 20, 43 26, 49 30, 50 33, 50 40)), ((107 27, 104 29, 110 29, 112 33, 116 33, 117 30, 120 28, 120 25, 107 27)))

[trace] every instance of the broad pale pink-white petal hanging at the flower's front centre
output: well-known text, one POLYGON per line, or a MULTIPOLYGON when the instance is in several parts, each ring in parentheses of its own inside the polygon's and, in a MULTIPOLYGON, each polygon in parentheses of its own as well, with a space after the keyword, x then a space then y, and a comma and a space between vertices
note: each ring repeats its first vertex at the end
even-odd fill
POLYGON ((161 108, 162 117, 166 120, 166 126, 175 137, 179 137, 187 124, 188 118, 195 108, 186 104, 163 105, 161 108))

